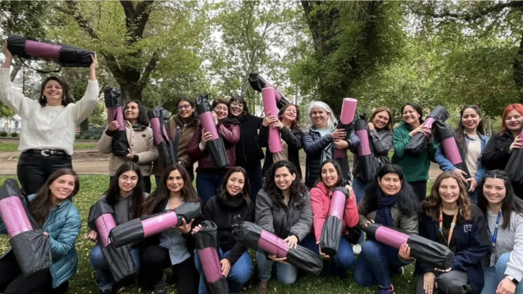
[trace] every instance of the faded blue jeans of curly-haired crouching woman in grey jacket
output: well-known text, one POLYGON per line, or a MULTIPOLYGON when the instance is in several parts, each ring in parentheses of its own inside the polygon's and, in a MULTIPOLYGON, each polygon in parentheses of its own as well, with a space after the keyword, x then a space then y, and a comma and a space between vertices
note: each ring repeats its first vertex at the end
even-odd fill
POLYGON ((298 269, 293 265, 267 259, 265 253, 261 251, 256 252, 256 262, 258 263, 258 279, 260 281, 268 281, 270 279, 273 266, 276 272, 276 278, 281 284, 290 285, 296 281, 298 269))

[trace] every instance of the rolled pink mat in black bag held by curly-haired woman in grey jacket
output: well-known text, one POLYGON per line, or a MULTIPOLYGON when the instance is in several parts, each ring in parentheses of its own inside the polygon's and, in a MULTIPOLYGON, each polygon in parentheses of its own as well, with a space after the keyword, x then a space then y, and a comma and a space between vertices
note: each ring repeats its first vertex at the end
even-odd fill
POLYGON ((301 245, 289 249, 283 239, 255 223, 243 221, 233 224, 233 236, 236 242, 254 250, 259 249, 277 257, 287 257, 285 262, 306 273, 317 276, 322 271, 323 261, 319 255, 301 245))

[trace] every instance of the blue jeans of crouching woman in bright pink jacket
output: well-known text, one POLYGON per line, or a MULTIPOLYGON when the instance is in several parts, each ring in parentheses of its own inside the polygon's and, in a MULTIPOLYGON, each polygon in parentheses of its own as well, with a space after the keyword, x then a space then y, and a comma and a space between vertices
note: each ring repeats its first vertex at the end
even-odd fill
MULTIPOLYGON (((320 255, 320 247, 316 244, 316 236, 314 234, 307 235, 303 239, 302 246, 320 255)), ((338 252, 332 258, 331 265, 328 268, 328 275, 344 277, 347 269, 354 265, 354 260, 353 246, 342 236, 342 239, 339 240, 338 252)))

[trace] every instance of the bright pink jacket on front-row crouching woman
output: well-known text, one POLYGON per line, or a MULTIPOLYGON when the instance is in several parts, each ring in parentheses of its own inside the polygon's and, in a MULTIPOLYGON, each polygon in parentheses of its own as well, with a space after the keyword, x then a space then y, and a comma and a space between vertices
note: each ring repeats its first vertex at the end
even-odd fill
MULTIPOLYGON (((354 228, 358 225, 359 214, 358 206, 356 205, 356 195, 354 191, 350 191, 351 198, 347 201, 347 206, 344 212, 345 228, 342 234, 347 234, 347 228, 354 228)), ((313 214, 314 235, 316 241, 322 238, 323 224, 328 217, 328 209, 331 206, 332 191, 327 190, 327 187, 322 182, 319 182, 311 189, 311 206, 313 214)))

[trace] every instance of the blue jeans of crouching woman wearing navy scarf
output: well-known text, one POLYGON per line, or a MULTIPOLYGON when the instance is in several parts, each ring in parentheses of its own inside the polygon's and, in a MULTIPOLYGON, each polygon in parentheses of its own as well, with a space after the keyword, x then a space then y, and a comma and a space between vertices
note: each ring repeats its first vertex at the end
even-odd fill
POLYGON ((405 266, 397 256, 399 250, 374 240, 363 243, 361 253, 354 265, 354 280, 359 286, 368 287, 378 284, 389 289, 391 279, 389 268, 405 266))

